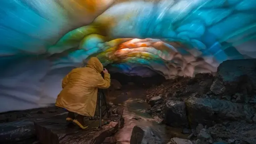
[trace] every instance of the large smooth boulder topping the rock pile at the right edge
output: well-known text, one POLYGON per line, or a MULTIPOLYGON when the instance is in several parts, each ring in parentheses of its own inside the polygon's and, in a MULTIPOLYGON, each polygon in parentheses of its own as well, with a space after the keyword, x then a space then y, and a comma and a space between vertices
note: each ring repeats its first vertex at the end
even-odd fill
POLYGON ((210 87, 215 94, 251 94, 256 91, 256 59, 227 60, 217 69, 210 87))

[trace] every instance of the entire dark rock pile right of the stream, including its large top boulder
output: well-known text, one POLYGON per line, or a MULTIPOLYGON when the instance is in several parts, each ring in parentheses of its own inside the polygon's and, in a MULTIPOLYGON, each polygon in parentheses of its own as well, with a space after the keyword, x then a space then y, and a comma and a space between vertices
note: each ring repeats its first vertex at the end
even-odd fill
POLYGON ((190 133, 169 144, 256 144, 256 60, 228 60, 216 76, 178 77, 148 89, 148 113, 190 133))

